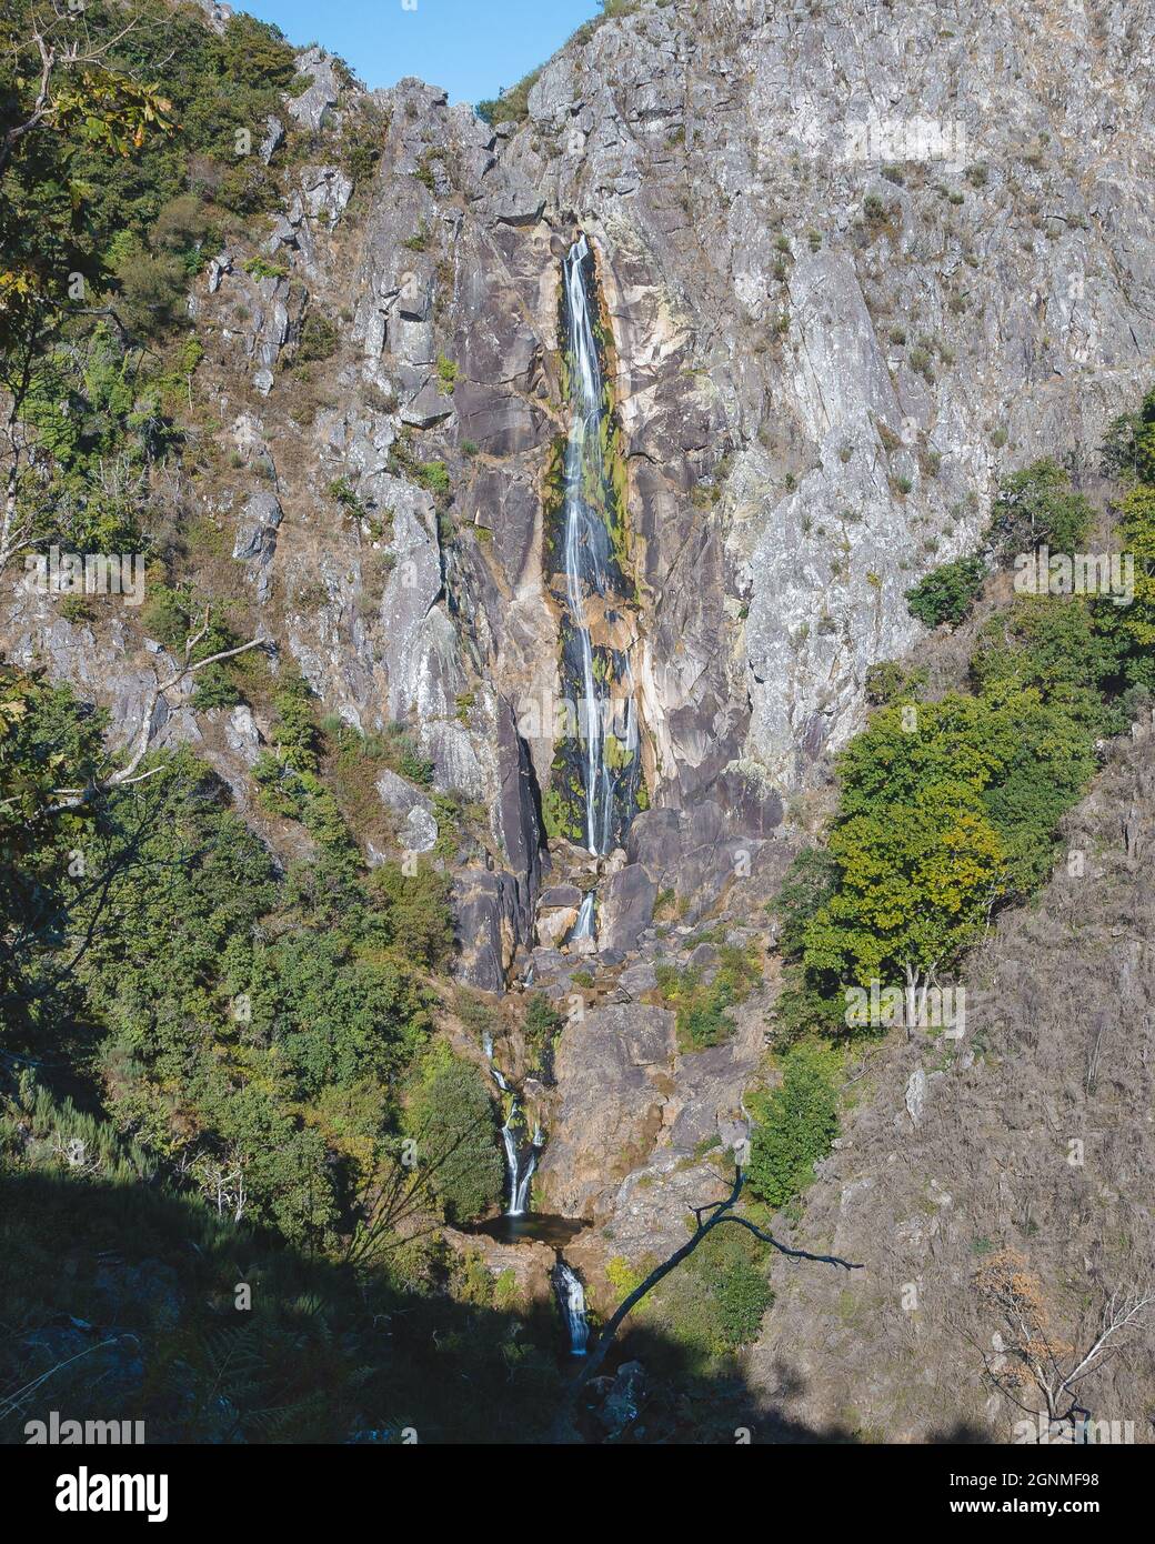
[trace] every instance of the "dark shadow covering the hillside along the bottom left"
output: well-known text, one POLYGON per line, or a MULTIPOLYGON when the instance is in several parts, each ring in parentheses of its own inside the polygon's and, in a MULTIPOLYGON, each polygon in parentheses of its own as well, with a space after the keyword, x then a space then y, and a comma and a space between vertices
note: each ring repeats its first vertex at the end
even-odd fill
MULTIPOLYGON (((397 1285, 405 1268, 309 1258, 141 1184, 0 1170, 0 1410, 15 1399, 0 1441, 51 1411, 142 1420, 151 1442, 550 1441, 576 1370, 553 1305, 460 1302, 443 1280, 397 1285)), ((638 1397, 622 1414, 596 1382, 582 1441, 855 1441, 764 1408, 740 1376, 703 1376, 650 1326, 607 1371, 624 1360, 645 1366, 638 1397)))

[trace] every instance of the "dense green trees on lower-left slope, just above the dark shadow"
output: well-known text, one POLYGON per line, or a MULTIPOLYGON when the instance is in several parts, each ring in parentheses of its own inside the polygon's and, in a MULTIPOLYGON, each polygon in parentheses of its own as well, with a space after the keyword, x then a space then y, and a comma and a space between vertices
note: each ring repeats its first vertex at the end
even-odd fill
MULTIPOLYGON (((258 783, 315 840, 315 858, 284 875, 187 752, 49 817, 52 787, 94 780, 103 721, 66 689, 5 676, 0 991, 6 1050, 88 1041, 111 1129, 158 1170, 210 1198, 227 1172, 230 1209, 332 1248, 357 1224, 358 1187, 395 1163, 406 1079, 432 1030, 428 974, 452 950, 448 879, 388 863, 364 874, 298 676, 275 704, 275 775, 258 769, 258 783)), ((460 1076, 445 1076, 446 1109, 465 1107, 460 1076)), ((489 1112, 469 1147, 482 1186, 480 1149, 489 1177, 500 1156, 474 1093, 489 1112)), ((448 1136, 445 1124, 426 1133, 431 1161, 448 1136)), ((457 1215, 491 1195, 437 1194, 457 1215)))

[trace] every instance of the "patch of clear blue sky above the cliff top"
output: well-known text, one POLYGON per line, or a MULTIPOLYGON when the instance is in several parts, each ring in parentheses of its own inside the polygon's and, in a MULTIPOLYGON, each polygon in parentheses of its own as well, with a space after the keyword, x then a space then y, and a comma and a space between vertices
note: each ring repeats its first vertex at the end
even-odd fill
POLYGON ((290 43, 321 43, 369 86, 420 76, 451 102, 497 96, 540 65, 598 0, 233 0, 290 43))

